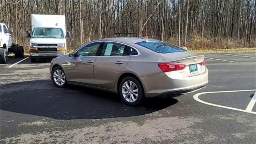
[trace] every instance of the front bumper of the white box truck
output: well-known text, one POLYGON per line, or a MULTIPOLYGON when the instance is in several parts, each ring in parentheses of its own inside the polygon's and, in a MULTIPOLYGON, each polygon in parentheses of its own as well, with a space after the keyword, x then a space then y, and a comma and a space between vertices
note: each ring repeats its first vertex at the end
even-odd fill
POLYGON ((40 52, 37 50, 30 50, 29 51, 30 56, 32 57, 57 57, 57 56, 62 56, 66 54, 66 50, 58 50, 55 52, 40 52))

